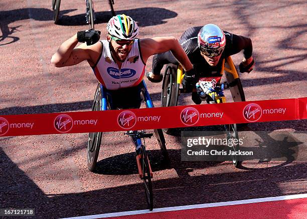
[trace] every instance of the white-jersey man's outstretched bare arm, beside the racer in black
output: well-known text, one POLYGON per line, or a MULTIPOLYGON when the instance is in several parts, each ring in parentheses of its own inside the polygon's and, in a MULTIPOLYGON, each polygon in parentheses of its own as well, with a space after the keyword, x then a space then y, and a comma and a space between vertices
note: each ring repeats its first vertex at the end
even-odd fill
POLYGON ((171 50, 184 69, 190 70, 193 65, 179 41, 173 36, 140 39, 141 54, 146 63, 149 56, 171 50))

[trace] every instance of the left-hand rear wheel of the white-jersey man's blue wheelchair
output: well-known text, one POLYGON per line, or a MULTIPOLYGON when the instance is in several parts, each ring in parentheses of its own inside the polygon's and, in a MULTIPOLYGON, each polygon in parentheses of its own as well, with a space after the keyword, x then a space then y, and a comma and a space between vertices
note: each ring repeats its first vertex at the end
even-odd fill
MULTIPOLYGON (((101 110, 101 88, 98 84, 94 96, 94 103, 92 106, 92 111, 101 110)), ((96 167, 97 158, 100 149, 102 132, 90 132, 88 135, 87 142, 87 166, 88 169, 93 172, 96 167)))

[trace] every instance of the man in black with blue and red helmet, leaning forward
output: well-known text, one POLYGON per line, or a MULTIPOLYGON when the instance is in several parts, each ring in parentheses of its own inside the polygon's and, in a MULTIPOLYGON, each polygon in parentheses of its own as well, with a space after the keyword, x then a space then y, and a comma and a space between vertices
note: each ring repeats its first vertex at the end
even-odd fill
MULTIPOLYGON (((243 50, 243 60, 239 65, 240 72, 250 72, 253 69, 251 39, 222 31, 215 24, 190 27, 183 33, 179 42, 194 67, 194 71, 186 72, 182 80, 183 87, 188 92, 193 90, 200 76, 219 76, 223 59, 241 50, 243 50)), ((163 65, 168 63, 178 64, 171 51, 156 54, 152 59, 152 72, 146 73, 147 78, 151 82, 162 81, 161 70, 163 65)), ((192 100, 196 104, 201 103, 196 91, 192 92, 192 100)))

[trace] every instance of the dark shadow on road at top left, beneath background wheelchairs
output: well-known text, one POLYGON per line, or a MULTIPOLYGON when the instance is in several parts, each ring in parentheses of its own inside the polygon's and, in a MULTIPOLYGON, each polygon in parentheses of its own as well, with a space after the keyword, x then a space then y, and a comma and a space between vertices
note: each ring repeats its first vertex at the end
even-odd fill
MULTIPOLYGON (((86 25, 85 8, 84 13, 72 16, 67 15, 69 12, 75 10, 77 9, 60 10, 59 25, 86 25)), ((116 11, 116 13, 125 13, 130 15, 139 26, 152 26, 166 23, 167 21, 165 21, 165 19, 177 16, 176 12, 160 7, 134 8, 116 11)), ((95 11, 95 15, 95 23, 106 23, 112 16, 110 11, 95 11)), ((18 41, 19 37, 13 36, 12 34, 14 32, 21 31, 18 29, 21 26, 10 26, 10 24, 18 20, 30 18, 34 20, 51 21, 53 20, 53 11, 47 8, 21 8, 0 11, 0 30, 2 32, 2 35, 0 35, 0 45, 18 41)))

